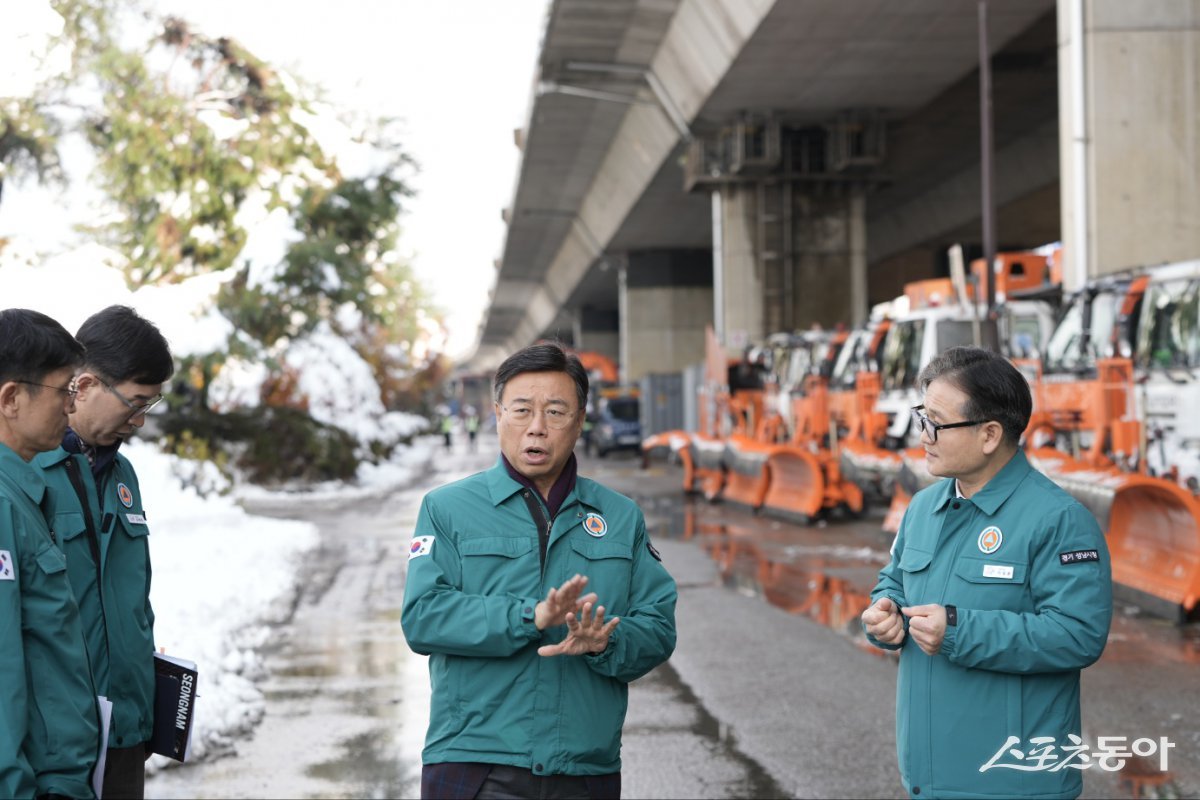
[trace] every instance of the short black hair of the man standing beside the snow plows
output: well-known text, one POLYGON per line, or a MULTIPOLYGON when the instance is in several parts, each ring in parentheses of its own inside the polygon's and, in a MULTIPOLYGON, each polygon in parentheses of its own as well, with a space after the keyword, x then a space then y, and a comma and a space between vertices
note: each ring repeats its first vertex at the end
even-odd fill
POLYGON ((949 348, 920 371, 920 391, 935 380, 944 380, 967 396, 962 414, 968 420, 995 420, 1013 445, 1033 413, 1030 383, 998 353, 977 347, 949 348))

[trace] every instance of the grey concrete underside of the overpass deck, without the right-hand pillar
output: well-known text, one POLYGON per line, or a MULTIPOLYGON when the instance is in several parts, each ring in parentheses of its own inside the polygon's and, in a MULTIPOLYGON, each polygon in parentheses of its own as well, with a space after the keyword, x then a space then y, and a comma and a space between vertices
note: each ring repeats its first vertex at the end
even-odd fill
MULTIPOLYGON (((1054 0, 990 5, 1002 249, 1060 237, 1056 35, 1054 0)), ((542 336, 612 349, 650 254, 712 276, 714 192, 788 296, 827 289, 804 259, 839 198, 862 198, 866 302, 943 273, 982 239, 978 48, 970 2, 556 0, 473 366, 542 336)))

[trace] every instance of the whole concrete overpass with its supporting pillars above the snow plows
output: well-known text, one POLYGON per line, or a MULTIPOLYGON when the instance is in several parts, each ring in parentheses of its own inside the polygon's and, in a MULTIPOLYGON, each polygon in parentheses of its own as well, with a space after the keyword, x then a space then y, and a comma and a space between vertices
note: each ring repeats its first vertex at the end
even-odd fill
MULTIPOLYGON (((1001 249, 1066 239, 1076 281, 1195 255, 1194 178, 1164 176, 1184 200, 1168 245, 1110 251, 1098 231, 1121 203, 1162 204, 1120 175, 1164 115, 1160 92, 1134 100, 1156 83, 1138 67, 1195 76, 1196 19, 1195 2, 991 0, 1001 249)), ((978 251, 978 7, 962 0, 554 0, 470 366, 551 336, 636 379, 698 361, 704 324, 738 347, 858 321, 943 271, 950 243, 978 251)), ((1152 174, 1200 150, 1184 83, 1166 112, 1183 134, 1148 137, 1166 145, 1152 174)))

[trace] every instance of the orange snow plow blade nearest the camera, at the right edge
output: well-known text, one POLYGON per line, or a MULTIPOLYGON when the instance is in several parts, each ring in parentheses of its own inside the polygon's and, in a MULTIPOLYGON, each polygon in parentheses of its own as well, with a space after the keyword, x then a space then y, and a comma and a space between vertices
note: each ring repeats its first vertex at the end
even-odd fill
POLYGON ((1052 450, 1034 464, 1096 517, 1112 558, 1112 581, 1188 616, 1200 601, 1200 503, 1172 481, 1088 469, 1052 450))

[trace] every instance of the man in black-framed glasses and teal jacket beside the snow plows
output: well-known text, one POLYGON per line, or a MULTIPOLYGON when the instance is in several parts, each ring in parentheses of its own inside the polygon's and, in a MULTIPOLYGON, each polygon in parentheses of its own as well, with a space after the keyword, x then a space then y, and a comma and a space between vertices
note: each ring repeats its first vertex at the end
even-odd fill
POLYGON ((929 471, 863 612, 900 649, 896 750, 913 798, 1075 798, 1079 673, 1112 619, 1104 535, 1018 447, 1032 410, 1006 359, 952 348, 913 409, 929 471))

